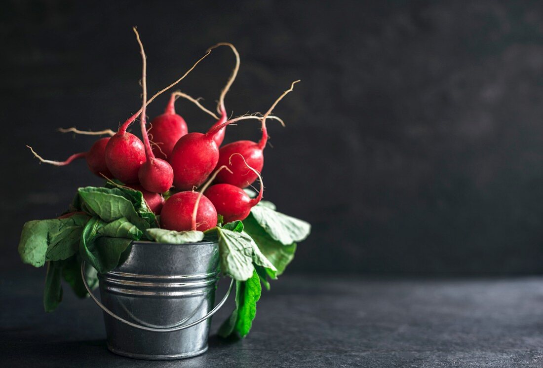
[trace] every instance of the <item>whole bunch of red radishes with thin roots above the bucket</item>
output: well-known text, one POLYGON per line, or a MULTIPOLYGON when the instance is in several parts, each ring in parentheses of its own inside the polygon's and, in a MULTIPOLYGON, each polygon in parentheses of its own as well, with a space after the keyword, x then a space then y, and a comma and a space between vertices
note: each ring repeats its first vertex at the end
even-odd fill
MULTIPOLYGON (((56 166, 64 166, 77 158, 85 158, 92 173, 110 180, 117 179, 123 185, 141 191, 150 210, 160 214, 160 225, 164 229, 206 231, 217 226, 218 214, 223 216, 224 223, 245 219, 251 207, 262 199, 260 172, 264 164, 263 150, 268 139, 266 119, 280 120, 270 116, 270 113, 279 100, 292 91, 297 81, 264 115, 244 115, 228 120, 224 98, 236 78, 239 55, 230 43, 218 43, 180 79, 147 100, 146 55, 136 29, 134 31, 143 60, 141 109, 123 123, 117 132, 97 132, 98 134, 111 132, 111 137, 98 139, 85 153, 72 155, 64 162, 43 160, 32 150, 34 155, 42 162, 56 166), (206 110, 197 100, 184 93, 174 92, 165 112, 151 120, 150 128, 147 129, 146 106, 162 92, 185 78, 198 62, 219 46, 229 46, 236 55, 236 67, 220 93, 217 106, 220 117, 206 110), (185 120, 175 112, 174 104, 177 97, 191 99, 201 109, 215 117, 217 122, 205 133, 189 133, 185 120), (138 116, 141 116, 143 141, 127 131, 138 116), (260 142, 237 141, 220 147, 226 126, 249 118, 261 119, 260 142), (250 198, 243 188, 250 186, 257 178, 260 179, 260 191, 256 198, 250 198), (195 191, 197 188, 200 188, 198 192, 195 191), (165 200, 162 194, 168 191, 175 193, 165 200)), ((79 132, 73 128, 68 131, 79 132)))

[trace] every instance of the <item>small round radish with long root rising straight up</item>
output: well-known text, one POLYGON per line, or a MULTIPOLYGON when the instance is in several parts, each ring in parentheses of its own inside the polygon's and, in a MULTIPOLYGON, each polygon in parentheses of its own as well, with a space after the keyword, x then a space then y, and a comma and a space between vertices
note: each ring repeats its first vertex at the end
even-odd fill
POLYGON ((151 149, 149 143, 149 136, 146 130, 146 104, 147 104, 147 61, 145 52, 143 50, 143 44, 141 43, 140 36, 136 35, 137 42, 140 44, 141 58, 142 58, 142 89, 143 89, 143 103, 141 111, 141 134, 143 136, 143 142, 145 145, 145 154, 147 161, 142 164, 138 171, 138 178, 140 183, 149 192, 163 193, 172 187, 173 182, 173 170, 170 164, 162 158, 156 158, 151 149))

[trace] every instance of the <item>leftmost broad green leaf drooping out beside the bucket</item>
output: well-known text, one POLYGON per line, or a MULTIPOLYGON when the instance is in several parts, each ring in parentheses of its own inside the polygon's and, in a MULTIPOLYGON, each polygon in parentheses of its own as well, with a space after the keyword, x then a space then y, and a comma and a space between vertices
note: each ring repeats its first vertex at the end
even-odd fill
POLYGON ((76 214, 64 219, 28 221, 18 245, 23 263, 41 267, 46 260, 70 257, 74 249, 72 242, 88 219, 86 215, 76 214))

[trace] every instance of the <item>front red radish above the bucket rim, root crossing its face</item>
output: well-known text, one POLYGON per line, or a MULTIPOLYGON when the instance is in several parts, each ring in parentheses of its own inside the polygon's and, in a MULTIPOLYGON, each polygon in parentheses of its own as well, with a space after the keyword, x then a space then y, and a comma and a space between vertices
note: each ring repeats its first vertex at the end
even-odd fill
POLYGON ((172 195, 160 215, 163 229, 175 231, 206 231, 217 226, 217 211, 203 192, 214 180, 215 176, 226 166, 220 167, 207 181, 200 193, 194 191, 179 192, 172 195))

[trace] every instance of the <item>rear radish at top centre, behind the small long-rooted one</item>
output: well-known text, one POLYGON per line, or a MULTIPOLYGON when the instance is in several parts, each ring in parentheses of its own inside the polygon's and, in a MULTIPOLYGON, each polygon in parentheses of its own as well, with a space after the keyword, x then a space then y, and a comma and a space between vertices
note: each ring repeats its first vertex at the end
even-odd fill
POLYGON ((167 160, 175 143, 188 133, 185 119, 175 113, 175 93, 172 93, 164 113, 151 120, 150 125, 148 134, 156 144, 153 146, 153 153, 156 157, 167 160))

